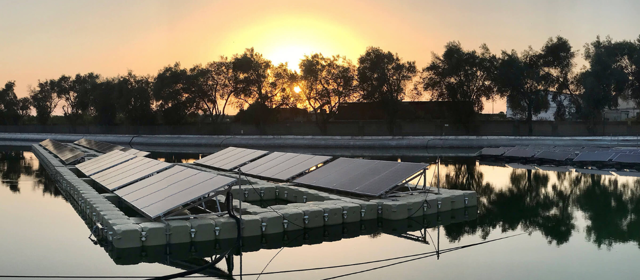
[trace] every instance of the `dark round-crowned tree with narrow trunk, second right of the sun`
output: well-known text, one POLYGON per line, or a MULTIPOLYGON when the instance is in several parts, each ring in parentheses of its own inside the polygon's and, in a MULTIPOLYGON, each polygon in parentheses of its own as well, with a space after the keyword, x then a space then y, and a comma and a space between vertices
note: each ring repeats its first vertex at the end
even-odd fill
POLYGON ((415 61, 403 62, 397 54, 368 47, 358 58, 357 80, 362 100, 378 103, 387 115, 389 133, 394 134, 397 114, 407 85, 417 75, 415 61))

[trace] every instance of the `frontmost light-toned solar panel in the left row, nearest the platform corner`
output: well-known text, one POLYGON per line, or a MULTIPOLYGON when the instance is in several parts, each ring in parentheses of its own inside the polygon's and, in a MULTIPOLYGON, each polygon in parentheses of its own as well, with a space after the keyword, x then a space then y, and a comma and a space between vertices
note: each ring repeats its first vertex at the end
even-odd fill
POLYGON ((145 216, 155 219, 234 182, 236 179, 230 177, 183 166, 173 166, 152 177, 119 189, 115 194, 140 210, 145 216))

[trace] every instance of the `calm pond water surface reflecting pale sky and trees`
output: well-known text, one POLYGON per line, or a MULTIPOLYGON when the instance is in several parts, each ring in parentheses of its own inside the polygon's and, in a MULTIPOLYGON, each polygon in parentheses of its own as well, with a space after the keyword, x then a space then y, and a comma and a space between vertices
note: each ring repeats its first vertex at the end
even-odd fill
MULTIPOLYGON (((155 154, 187 162, 193 155, 155 154)), ((397 157, 385 156, 396 160, 397 157)), ((403 161, 433 162, 406 157, 403 161)), ((429 172, 435 168, 431 168, 429 172)), ((94 245, 90 230, 49 182, 31 152, 0 154, 0 274, 49 276, 160 276, 186 262, 118 265, 94 245)), ((243 273, 342 265, 419 254, 509 237, 339 279, 638 279, 640 179, 576 172, 516 170, 472 158, 443 160, 445 188, 472 189, 477 219, 429 228, 429 244, 385 233, 335 242, 261 249, 243 254, 243 273), (434 242, 431 242, 431 239, 434 242), (439 244, 438 244, 439 240, 439 244)), ((420 232, 413 232, 420 236, 420 232)), ((162 258, 161 258, 162 259, 162 258)), ((207 258, 208 260, 208 258, 207 258)), ((407 260, 407 259, 403 259, 407 260)), ((260 279, 324 279, 396 261, 339 269, 263 275, 260 279)), ((118 261, 120 262, 120 261, 118 261)), ((240 260, 232 263, 239 273, 240 260)), ((182 265, 182 266, 181 266, 182 265)), ((227 263, 218 264, 221 271, 227 263)), ((240 277, 235 277, 239 279, 240 277)), ((229 278, 226 278, 229 279, 229 278)), ((243 279, 256 279, 244 276, 243 279)))

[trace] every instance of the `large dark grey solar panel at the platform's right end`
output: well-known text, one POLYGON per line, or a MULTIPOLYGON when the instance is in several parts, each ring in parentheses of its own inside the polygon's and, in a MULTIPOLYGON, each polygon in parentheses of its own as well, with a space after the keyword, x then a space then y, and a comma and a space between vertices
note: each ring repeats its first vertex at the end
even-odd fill
POLYGON ((380 196, 427 166, 424 163, 339 158, 294 182, 360 195, 380 196))

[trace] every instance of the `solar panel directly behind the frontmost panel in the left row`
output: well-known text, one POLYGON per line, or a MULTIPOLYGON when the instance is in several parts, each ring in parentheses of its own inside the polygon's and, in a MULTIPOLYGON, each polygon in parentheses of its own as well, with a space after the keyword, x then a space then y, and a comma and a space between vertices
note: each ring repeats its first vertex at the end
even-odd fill
POLYGON ((173 166, 156 159, 137 157, 91 175, 91 179, 113 191, 173 166))

